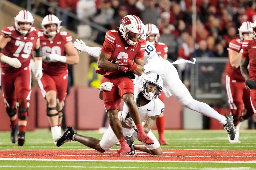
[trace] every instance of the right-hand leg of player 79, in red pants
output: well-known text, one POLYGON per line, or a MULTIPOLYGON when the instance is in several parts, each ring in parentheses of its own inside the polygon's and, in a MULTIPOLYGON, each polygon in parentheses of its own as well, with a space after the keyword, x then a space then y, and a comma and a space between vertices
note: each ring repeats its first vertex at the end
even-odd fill
POLYGON ((25 143, 25 133, 28 122, 28 107, 31 94, 31 71, 27 67, 19 71, 19 75, 15 79, 15 95, 18 101, 18 118, 19 118, 19 134, 18 146, 25 143))

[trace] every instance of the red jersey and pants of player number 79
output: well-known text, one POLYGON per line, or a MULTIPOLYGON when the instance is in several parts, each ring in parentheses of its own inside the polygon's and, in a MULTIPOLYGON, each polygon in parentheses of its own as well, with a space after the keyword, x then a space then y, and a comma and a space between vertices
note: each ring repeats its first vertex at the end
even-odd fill
POLYGON ((29 33, 24 37, 16 31, 15 26, 8 26, 1 31, 1 35, 11 38, 11 41, 2 49, 2 53, 11 58, 18 58, 21 63, 21 67, 17 69, 1 62, 4 101, 7 107, 13 107, 17 99, 30 99, 31 71, 29 62, 38 38, 38 29, 31 27, 29 33))

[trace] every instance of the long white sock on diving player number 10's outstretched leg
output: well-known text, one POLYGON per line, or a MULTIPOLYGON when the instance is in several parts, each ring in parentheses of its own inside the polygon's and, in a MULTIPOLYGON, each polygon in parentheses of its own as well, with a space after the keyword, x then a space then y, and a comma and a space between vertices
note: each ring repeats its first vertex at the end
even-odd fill
POLYGON ((197 101, 195 99, 192 100, 187 105, 185 105, 185 107, 188 107, 191 110, 197 111, 197 112, 199 112, 199 113, 201 113, 201 114, 203 114, 207 117, 211 117, 213 119, 216 119, 217 121, 221 122, 221 124, 222 124, 223 118, 225 118, 223 115, 220 115, 218 112, 216 112, 212 107, 210 107, 206 103, 197 101))

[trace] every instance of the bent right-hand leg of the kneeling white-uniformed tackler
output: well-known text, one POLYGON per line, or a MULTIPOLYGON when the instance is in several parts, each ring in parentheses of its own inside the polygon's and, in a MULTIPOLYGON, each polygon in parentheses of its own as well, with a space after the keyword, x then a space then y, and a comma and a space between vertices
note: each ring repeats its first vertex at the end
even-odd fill
MULTIPOLYGON (((132 135, 137 139, 137 132, 133 132, 132 135)), ((132 150, 139 150, 142 152, 150 153, 151 155, 162 155, 162 149, 160 147, 159 142, 157 141, 155 135, 152 133, 151 130, 149 130, 147 134, 151 139, 154 140, 154 144, 147 145, 146 143, 141 142, 142 144, 132 144, 131 149, 132 150)))

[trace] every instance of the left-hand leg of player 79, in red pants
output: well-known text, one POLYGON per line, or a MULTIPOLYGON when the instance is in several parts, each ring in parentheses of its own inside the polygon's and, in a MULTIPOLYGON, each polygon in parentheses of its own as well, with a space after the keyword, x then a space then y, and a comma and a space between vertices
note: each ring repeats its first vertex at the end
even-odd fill
POLYGON ((14 80, 16 76, 15 73, 8 73, 4 72, 1 74, 1 83, 2 83, 2 92, 3 98, 6 108, 6 113, 10 118, 10 128, 11 130, 11 141, 15 143, 18 141, 18 117, 17 117, 17 110, 16 110, 16 97, 14 94, 14 80))

